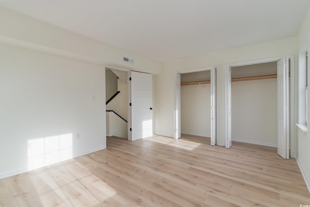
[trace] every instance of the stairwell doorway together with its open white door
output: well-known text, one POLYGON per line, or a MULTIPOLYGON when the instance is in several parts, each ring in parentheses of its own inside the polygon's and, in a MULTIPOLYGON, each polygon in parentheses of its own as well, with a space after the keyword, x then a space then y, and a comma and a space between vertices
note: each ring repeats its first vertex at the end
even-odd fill
POLYGON ((152 74, 106 67, 107 137, 153 136, 152 74))

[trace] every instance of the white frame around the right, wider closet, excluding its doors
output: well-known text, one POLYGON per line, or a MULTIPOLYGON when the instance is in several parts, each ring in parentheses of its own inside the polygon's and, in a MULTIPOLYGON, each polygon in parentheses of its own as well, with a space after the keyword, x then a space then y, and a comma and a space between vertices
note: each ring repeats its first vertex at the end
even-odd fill
MULTIPOLYGON (((281 56, 281 57, 275 57, 275 58, 267 58, 267 59, 261 59, 261 60, 255 60, 255 61, 248 61, 248 62, 241 62, 241 63, 236 63, 236 64, 226 64, 224 65, 224 69, 226 70, 227 67, 236 67, 236 66, 243 66, 243 65, 249 65, 249 64, 262 64, 262 63, 269 63, 269 62, 276 62, 279 61, 283 58, 289 58, 291 61, 290 64, 290 150, 291 150, 291 158, 295 158, 295 124, 294 124, 294 55, 289 55, 289 56, 281 56)), ((227 75, 227 74, 226 74, 227 75)), ((225 81, 226 82, 226 81, 225 81)), ((227 83, 226 83, 227 84, 227 83)), ((227 90, 226 90, 226 95, 225 97, 227 98, 227 90)), ((225 106, 227 107, 227 106, 225 106)), ((228 114, 225 112, 225 120, 228 119, 228 114)), ((225 129, 226 130, 226 129, 225 129)), ((226 132, 227 135, 227 132, 226 132)), ((226 139, 225 139, 225 145, 226 145, 226 139)))

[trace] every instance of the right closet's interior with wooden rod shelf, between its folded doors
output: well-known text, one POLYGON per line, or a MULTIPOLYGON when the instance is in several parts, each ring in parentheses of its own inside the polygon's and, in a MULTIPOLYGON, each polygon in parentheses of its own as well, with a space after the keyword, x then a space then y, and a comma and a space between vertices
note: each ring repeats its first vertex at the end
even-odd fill
POLYGON ((277 62, 232 67, 232 140, 277 147, 277 62))

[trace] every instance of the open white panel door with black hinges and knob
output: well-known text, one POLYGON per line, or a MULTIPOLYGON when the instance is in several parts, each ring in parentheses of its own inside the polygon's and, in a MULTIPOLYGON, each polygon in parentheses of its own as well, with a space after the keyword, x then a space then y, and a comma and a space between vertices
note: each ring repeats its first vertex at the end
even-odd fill
POLYGON ((152 74, 131 71, 131 140, 153 135, 152 74))

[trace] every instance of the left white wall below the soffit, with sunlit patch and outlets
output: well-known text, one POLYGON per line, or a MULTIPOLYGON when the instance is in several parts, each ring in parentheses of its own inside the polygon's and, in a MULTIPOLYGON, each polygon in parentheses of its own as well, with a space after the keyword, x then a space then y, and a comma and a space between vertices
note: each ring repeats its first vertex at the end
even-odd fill
POLYGON ((70 154, 59 161, 106 147, 103 66, 4 44, 0 56, 0 178, 57 162, 51 153, 62 149, 29 157, 30 141, 65 139, 70 154))

